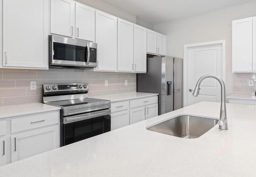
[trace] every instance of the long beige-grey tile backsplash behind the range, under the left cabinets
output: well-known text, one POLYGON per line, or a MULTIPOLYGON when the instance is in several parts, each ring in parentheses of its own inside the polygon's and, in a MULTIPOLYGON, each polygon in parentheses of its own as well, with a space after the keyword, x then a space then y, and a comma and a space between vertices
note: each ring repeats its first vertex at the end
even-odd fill
POLYGON ((83 69, 0 70, 0 106, 42 101, 42 84, 88 83, 89 96, 136 92, 134 73, 96 73, 83 69), (105 87, 105 80, 108 86, 105 87), (128 85, 124 85, 124 81, 128 85), (36 81, 36 90, 30 90, 36 81))

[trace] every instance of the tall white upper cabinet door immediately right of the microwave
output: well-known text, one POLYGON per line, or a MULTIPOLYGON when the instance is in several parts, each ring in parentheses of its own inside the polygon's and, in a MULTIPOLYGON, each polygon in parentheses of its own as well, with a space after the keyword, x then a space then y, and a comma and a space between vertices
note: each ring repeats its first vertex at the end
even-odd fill
POLYGON ((96 43, 98 43, 96 70, 116 71, 117 18, 98 10, 96 10, 96 43))

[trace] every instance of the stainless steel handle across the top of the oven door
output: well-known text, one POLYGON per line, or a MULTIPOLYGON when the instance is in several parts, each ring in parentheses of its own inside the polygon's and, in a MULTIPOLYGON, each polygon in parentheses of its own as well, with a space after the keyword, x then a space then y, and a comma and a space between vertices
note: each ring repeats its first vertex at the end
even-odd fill
POLYGON ((76 115, 76 116, 72 116, 70 118, 64 117, 64 124, 68 124, 68 123, 72 123, 72 122, 78 122, 80 120, 87 120, 87 119, 91 119, 91 118, 96 118, 96 117, 99 117, 99 116, 105 116, 105 115, 108 115, 110 113, 111 113, 111 111, 110 111, 110 109, 108 109, 108 110, 104 110, 104 111, 91 112, 91 113, 88 113, 87 115, 84 115, 84 116, 76 115))

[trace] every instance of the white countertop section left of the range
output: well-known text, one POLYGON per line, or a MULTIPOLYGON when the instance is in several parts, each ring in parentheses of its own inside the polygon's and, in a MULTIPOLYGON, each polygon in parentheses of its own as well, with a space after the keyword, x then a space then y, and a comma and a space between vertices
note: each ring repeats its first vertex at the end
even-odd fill
POLYGON ((60 107, 51 106, 42 103, 16 104, 10 106, 0 106, 0 118, 8 118, 13 116, 22 116, 26 114, 35 114, 52 110, 59 110, 60 107))

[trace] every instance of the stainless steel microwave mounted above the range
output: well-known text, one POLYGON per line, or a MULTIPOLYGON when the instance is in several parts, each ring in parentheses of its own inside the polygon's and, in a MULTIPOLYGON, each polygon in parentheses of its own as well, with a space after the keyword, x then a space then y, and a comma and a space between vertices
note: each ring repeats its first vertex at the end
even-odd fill
POLYGON ((97 66, 97 43, 49 35, 49 67, 97 66))

